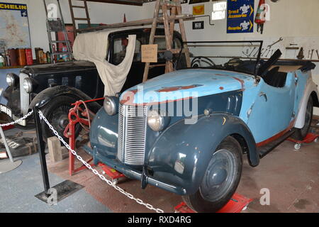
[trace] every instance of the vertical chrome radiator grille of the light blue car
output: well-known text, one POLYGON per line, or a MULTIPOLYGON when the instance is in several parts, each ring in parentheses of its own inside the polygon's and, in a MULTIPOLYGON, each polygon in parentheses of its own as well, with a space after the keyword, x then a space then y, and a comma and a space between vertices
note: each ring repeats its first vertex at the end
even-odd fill
POLYGON ((128 165, 143 165, 147 106, 127 106, 118 109, 118 159, 128 165))

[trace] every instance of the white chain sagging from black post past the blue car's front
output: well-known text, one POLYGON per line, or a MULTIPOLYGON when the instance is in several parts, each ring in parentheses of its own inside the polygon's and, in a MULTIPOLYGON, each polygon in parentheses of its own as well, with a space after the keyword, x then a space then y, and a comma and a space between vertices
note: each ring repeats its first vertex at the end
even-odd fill
POLYGON ((129 199, 133 199, 134 201, 136 201, 138 204, 141 204, 143 206, 145 206, 147 209, 156 211, 157 213, 164 213, 164 211, 162 209, 158 209, 155 208, 154 206, 152 206, 151 204, 147 204, 144 201, 142 201, 142 199, 138 199, 135 198, 135 196, 133 196, 133 194, 130 194, 128 192, 125 192, 124 189, 121 189, 121 187, 116 186, 116 184, 114 184, 113 182, 111 182, 111 180, 106 179, 106 177, 104 177, 103 175, 101 175, 97 170, 94 170, 91 165, 89 165, 89 163, 85 162, 81 156, 77 155, 77 152, 75 150, 72 150, 69 146, 68 143, 65 142, 65 140, 63 140, 62 136, 59 135, 59 133, 57 133, 57 131, 55 131, 55 129, 53 128, 53 126, 49 123, 49 121, 47 121, 47 118, 45 118, 45 116, 43 116, 42 112, 39 111, 39 116, 40 119, 42 119, 43 121, 45 121, 45 123, 47 124, 47 126, 49 126, 49 128, 51 129, 51 131, 57 136, 57 138, 59 138, 59 140, 65 145, 65 147, 71 151, 71 153, 77 157, 77 159, 79 161, 81 161, 83 163, 83 165, 85 165, 89 170, 91 170, 95 175, 99 176, 103 181, 105 181, 108 185, 110 185, 111 187, 113 187, 114 189, 116 189, 118 192, 121 192, 122 194, 124 194, 125 196, 127 196, 129 199))

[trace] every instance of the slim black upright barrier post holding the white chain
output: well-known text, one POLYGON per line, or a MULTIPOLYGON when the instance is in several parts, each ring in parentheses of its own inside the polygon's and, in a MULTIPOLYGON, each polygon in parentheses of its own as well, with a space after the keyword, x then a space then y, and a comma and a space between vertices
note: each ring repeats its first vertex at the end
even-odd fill
POLYGON ((38 138, 38 151, 40 155, 40 164, 41 164, 41 171, 42 171, 42 178, 43 178, 43 186, 44 186, 44 192, 46 195, 48 190, 50 189, 50 182, 49 182, 49 176, 47 175, 47 162, 45 160, 45 143, 43 141, 42 136, 42 128, 41 128, 41 122, 39 117, 39 109, 38 106, 35 105, 33 107, 33 114, 35 119, 35 128, 37 131, 37 138, 38 138))

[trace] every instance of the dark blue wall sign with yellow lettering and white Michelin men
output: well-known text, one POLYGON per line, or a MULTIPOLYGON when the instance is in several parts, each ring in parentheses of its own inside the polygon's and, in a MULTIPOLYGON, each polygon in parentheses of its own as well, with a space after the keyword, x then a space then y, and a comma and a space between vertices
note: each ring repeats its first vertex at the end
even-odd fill
POLYGON ((254 0, 228 0, 227 33, 254 32, 254 0))

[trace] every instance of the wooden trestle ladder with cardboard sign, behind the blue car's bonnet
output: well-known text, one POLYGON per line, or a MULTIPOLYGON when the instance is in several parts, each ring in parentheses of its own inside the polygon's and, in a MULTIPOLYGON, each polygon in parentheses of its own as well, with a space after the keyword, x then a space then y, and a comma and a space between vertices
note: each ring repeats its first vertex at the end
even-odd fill
MULTIPOLYGON (((189 48, 186 44, 186 32, 184 27, 184 19, 183 15, 181 14, 181 4, 180 0, 157 0, 155 4, 155 11, 152 21, 152 29, 150 33, 150 42, 149 44, 154 44, 155 38, 163 38, 165 37, 166 42, 166 50, 161 50, 161 52, 165 52, 169 50, 173 54, 178 54, 181 52, 181 49, 173 49, 173 40, 174 40, 174 25, 175 21, 179 21, 179 30, 181 32, 181 38, 183 40, 183 53, 186 57, 186 64, 187 67, 191 67, 191 60, 189 58, 189 48), (159 11, 162 11, 162 18, 159 17, 159 11), (169 13, 170 11, 170 13, 169 13), (162 20, 161 20, 162 19, 162 20), (164 23, 164 31, 165 35, 155 35, 157 27, 157 23, 163 22, 164 23)), ((143 74, 143 82, 147 80, 148 73, 150 71, 150 67, 160 67, 163 66, 162 64, 158 65, 150 65, 150 62, 145 63, 145 70, 143 74)), ((165 63, 165 73, 167 72, 173 72, 173 62, 172 61, 166 61, 165 63)))

